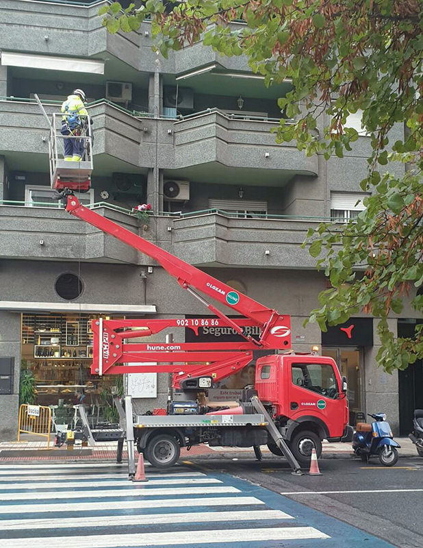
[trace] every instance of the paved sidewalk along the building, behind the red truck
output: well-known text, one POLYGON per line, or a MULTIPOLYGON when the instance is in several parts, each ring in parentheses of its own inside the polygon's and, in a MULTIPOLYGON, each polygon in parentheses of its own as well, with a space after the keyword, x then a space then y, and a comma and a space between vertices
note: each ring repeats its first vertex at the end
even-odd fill
MULTIPOLYGON (((417 451, 411 440, 407 437, 396 438, 401 446, 400 457, 416 457, 417 451)), ((80 447, 74 449, 55 448, 50 443, 47 449, 47 441, 22 441, 22 442, 1 442, 0 462, 11 462, 16 460, 115 460, 117 442, 101 443, 98 447, 80 447)), ((125 446, 124 446, 125 447, 125 446)), ((264 458, 278 458, 274 456, 266 446, 261 447, 264 458)), ((127 457, 126 451, 123 458, 127 457)), ((329 443, 323 442, 321 458, 353 458, 350 443, 329 443)), ((208 445, 196 445, 188 451, 181 449, 181 459, 204 459, 204 458, 242 458, 254 459, 252 447, 209 447, 208 445)))

